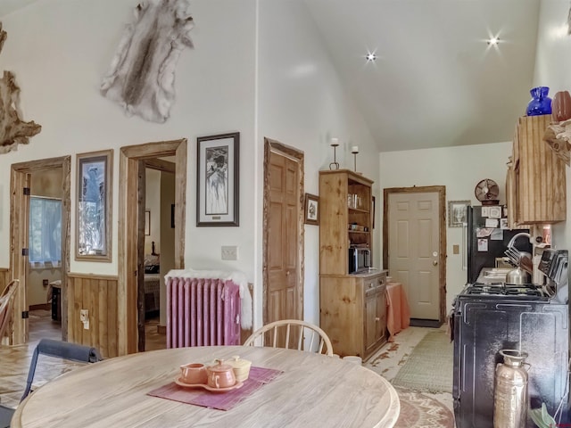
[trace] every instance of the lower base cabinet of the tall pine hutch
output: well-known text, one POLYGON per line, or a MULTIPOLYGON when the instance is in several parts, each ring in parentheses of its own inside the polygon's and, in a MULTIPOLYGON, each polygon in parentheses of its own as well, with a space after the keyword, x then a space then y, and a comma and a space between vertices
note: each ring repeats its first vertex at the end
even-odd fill
POLYGON ((319 279, 320 327, 335 354, 366 359, 386 342, 386 271, 319 279))

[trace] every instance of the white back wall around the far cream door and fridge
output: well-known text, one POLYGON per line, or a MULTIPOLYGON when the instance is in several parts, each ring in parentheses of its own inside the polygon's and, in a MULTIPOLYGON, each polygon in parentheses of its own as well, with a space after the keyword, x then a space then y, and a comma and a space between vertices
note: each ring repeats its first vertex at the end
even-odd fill
MULTIPOLYGON (((383 152, 379 155, 379 181, 382 188, 444 185, 446 186, 447 204, 448 201, 469 200, 472 205, 480 205, 474 194, 474 188, 480 180, 491 178, 500 186, 500 202, 505 203, 506 162, 510 154, 511 143, 383 152)), ((377 210, 380 210, 382 215, 382 207, 378 207, 377 210)), ((383 221, 382 218, 381 221, 383 221)), ((459 245, 462 248, 463 229, 448 227, 448 220, 446 225, 448 254, 446 307, 448 310, 451 309, 454 296, 466 284, 468 272, 462 269, 462 251, 460 254, 452 254, 453 245, 459 245)))

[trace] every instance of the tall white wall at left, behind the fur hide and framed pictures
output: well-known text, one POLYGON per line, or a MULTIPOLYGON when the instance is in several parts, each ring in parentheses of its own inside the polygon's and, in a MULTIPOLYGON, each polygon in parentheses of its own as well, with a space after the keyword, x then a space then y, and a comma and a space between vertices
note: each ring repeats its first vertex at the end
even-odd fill
MULTIPOLYGON (((0 70, 15 72, 23 119, 33 119, 43 128, 28 146, 0 156, 0 205, 9 206, 12 163, 112 148, 112 262, 71 259, 70 270, 117 275, 120 147, 186 137, 186 267, 242 270, 254 283, 254 326, 261 325, 263 138, 305 152, 305 191, 316 194, 318 171, 333 160, 332 136, 342 143, 337 150, 342 168, 352 169, 350 147, 360 147, 358 170, 367 177, 377 176, 377 149, 343 93, 301 0, 193 0, 194 49, 180 56, 170 119, 154 124, 128 118, 99 94, 99 86, 136 5, 136 0, 44 0, 4 18, 8 39, 0 70), (239 131, 241 137, 240 226, 196 227, 196 137, 231 131, 239 131), (222 245, 237 245, 239 259, 222 261, 222 245)), ((71 165, 73 195, 75 159, 71 165)), ((376 184, 380 200, 378 189, 376 184)), ((75 230, 75 202, 71 209, 75 230)), ((0 210, 0 267, 9 264, 7 212, 0 210)), ((379 240, 380 235, 376 248, 379 240)), ((305 256, 305 318, 318 323, 317 226, 306 226, 305 256)))

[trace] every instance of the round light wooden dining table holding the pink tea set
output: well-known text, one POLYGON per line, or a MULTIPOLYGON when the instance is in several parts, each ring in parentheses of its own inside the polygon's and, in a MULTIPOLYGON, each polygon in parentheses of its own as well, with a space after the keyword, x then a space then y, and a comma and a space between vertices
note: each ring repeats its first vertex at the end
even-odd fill
POLYGON ((391 427, 399 411, 393 386, 358 364, 300 350, 214 346, 153 350, 76 368, 22 401, 12 427, 391 427), (181 365, 209 366, 234 356, 281 373, 228 410, 148 395, 173 383, 181 365))

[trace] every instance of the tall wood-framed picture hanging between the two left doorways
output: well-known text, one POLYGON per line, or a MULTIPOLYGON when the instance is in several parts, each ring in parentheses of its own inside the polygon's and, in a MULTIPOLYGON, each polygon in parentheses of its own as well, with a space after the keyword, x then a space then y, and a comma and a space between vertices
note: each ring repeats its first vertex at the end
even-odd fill
POLYGON ((113 151, 77 158, 75 259, 111 261, 113 151))

